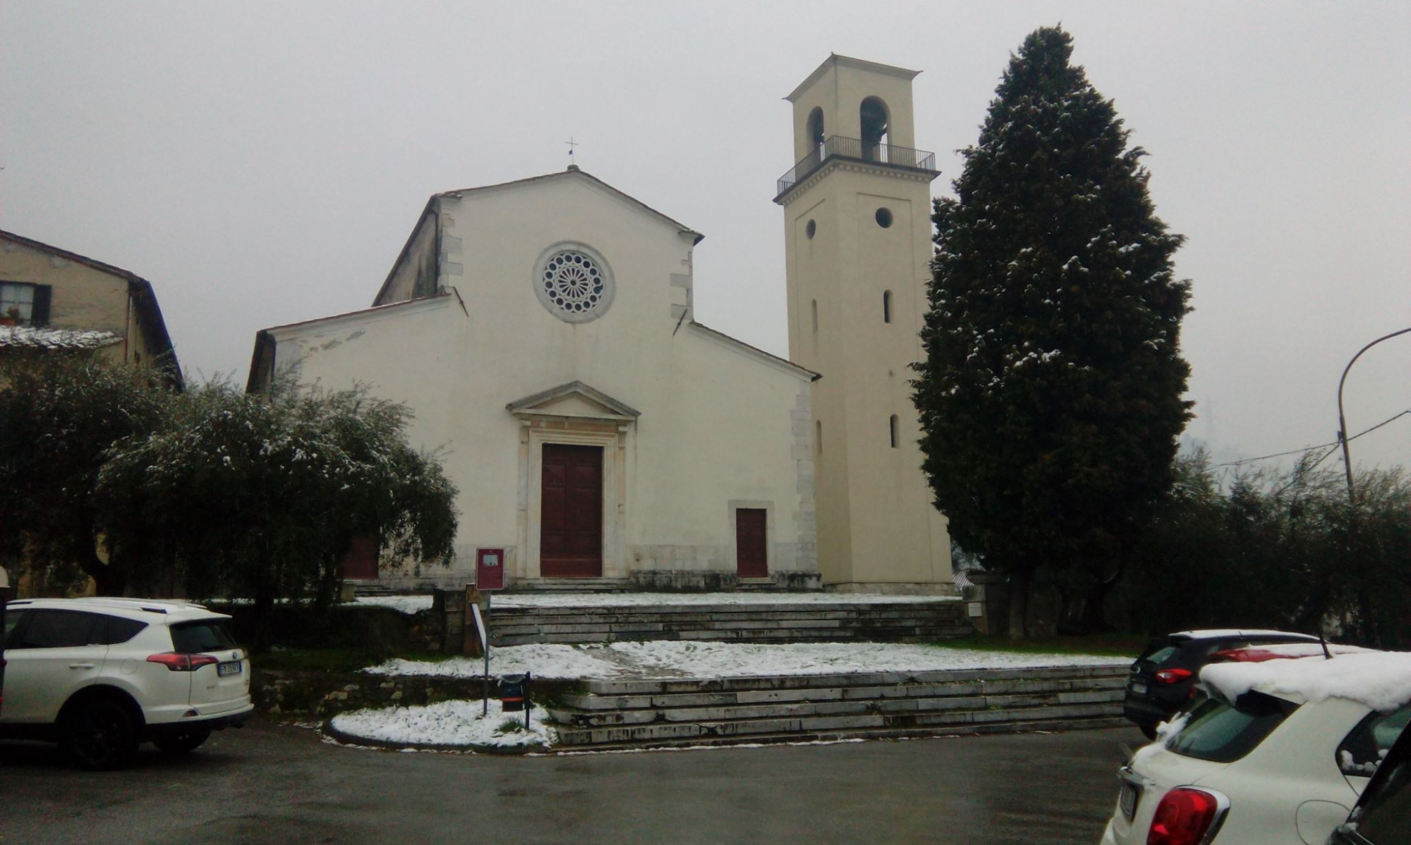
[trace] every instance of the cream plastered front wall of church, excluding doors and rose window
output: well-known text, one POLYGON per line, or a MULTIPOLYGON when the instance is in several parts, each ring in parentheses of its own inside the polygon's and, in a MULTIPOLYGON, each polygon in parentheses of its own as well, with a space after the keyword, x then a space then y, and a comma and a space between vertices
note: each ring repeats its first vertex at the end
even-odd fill
POLYGON ((579 175, 439 203, 454 245, 443 266, 463 268, 442 276, 449 296, 270 334, 277 369, 367 383, 413 408, 413 442, 444 448, 461 511, 444 580, 463 577, 476 546, 505 546, 509 577, 538 576, 543 442, 604 446, 605 577, 734 572, 731 501, 769 503, 772 572, 817 569, 810 373, 680 320, 694 232, 579 175), (611 268, 612 306, 591 323, 553 317, 533 292, 535 262, 560 242, 590 245, 611 268), (507 410, 570 382, 641 415, 555 428, 552 414, 536 425, 507 410))

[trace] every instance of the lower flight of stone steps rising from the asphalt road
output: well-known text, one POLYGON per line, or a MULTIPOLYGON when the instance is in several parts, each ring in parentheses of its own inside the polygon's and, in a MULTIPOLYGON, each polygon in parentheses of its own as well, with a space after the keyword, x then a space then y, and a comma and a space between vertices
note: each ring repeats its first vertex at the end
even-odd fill
POLYGON ((1120 727, 1126 666, 590 680, 550 714, 563 749, 1120 727))

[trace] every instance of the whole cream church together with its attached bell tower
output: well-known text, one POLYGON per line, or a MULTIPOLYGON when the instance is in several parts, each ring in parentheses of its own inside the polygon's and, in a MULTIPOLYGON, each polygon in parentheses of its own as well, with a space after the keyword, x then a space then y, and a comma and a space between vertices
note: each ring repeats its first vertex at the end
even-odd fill
POLYGON ((250 389, 364 383, 442 449, 456 563, 391 587, 502 552, 522 587, 948 593, 909 386, 937 175, 914 76, 834 55, 789 96, 787 361, 696 323, 700 234, 570 166, 430 197, 373 307, 258 332, 250 389))

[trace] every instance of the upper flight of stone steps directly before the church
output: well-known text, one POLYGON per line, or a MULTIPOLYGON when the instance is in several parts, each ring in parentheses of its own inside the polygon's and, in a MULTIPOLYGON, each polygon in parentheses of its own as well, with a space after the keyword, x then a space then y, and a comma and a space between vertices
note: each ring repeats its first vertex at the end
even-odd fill
POLYGON ((701 639, 732 642, 902 642, 974 632, 962 601, 653 604, 514 607, 492 604, 491 645, 701 639))

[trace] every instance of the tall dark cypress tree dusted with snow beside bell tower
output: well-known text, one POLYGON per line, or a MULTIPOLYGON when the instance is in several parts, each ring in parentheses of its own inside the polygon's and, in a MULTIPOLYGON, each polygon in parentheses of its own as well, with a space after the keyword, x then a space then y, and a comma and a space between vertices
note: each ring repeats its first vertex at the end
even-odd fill
POLYGON ((955 197, 935 201, 914 382, 935 506, 959 545, 1010 573, 1012 637, 1041 568, 1084 584, 1101 614, 1171 486, 1191 407, 1189 283, 1173 275, 1184 238, 1156 217, 1146 152, 1071 54, 1061 28, 1024 39, 955 197))

